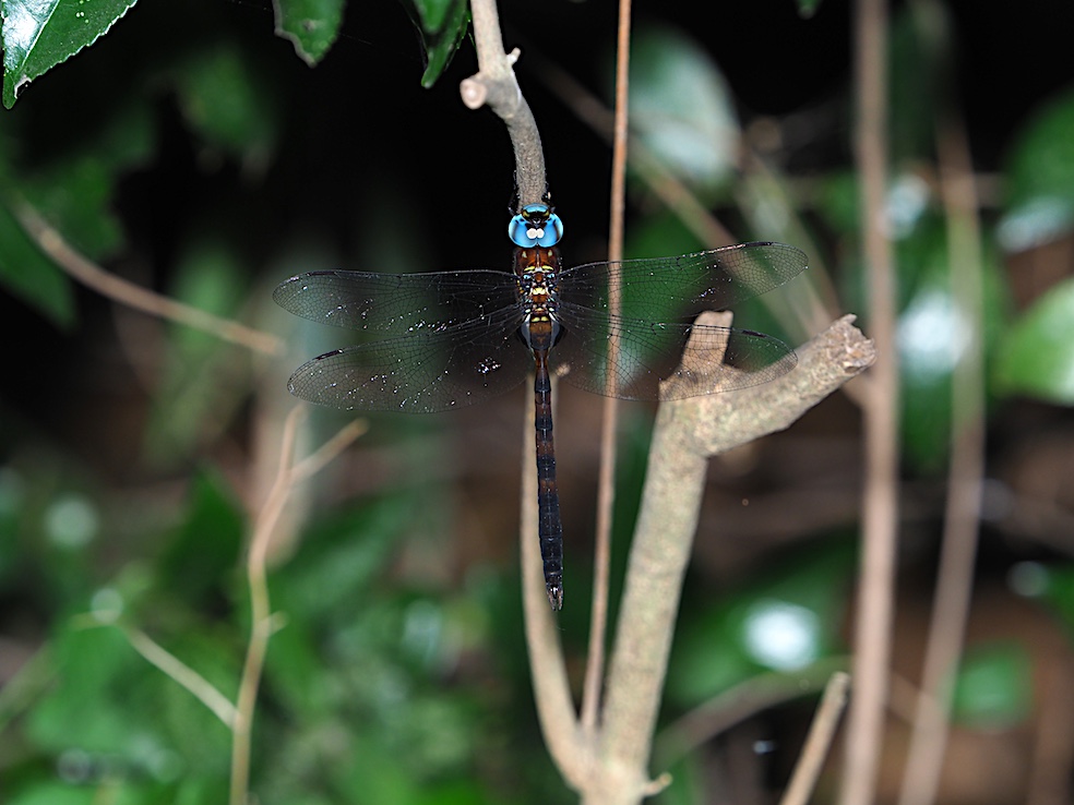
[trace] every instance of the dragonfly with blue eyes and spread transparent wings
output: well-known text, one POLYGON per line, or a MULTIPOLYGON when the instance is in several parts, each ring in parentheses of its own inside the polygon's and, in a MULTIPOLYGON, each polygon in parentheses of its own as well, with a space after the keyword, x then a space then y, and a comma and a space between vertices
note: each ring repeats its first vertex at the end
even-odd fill
POLYGON ((753 242, 563 268, 563 221, 545 203, 522 207, 508 235, 515 247, 511 272, 319 271, 285 280, 273 298, 299 316, 365 334, 362 343, 295 371, 288 388, 310 403, 431 413, 488 400, 533 374, 538 536, 548 601, 560 610, 551 377, 621 399, 680 399, 767 383, 797 364, 790 347, 695 319, 789 281, 807 257, 790 245, 753 242))

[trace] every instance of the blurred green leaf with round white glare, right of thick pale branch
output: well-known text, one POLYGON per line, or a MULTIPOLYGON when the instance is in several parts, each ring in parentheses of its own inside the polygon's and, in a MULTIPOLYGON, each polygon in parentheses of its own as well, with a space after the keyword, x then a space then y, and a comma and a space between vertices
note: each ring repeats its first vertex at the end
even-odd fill
POLYGON ((852 550, 839 544, 692 613, 668 670, 668 697, 690 707, 766 671, 793 672, 840 646, 852 550))

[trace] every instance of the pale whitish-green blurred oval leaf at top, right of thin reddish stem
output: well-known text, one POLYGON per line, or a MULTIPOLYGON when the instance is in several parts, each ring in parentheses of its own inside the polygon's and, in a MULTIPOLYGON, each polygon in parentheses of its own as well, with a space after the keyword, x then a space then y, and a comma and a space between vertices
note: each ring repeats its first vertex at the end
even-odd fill
POLYGON ((695 189, 725 181, 738 160, 739 124, 707 53, 680 31, 647 27, 630 70, 631 123, 645 148, 695 189))

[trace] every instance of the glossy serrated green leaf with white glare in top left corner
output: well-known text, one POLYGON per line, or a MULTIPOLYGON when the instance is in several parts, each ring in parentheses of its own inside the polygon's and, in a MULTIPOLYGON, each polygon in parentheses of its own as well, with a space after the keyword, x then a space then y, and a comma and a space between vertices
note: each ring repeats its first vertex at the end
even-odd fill
POLYGON ((3 105, 31 81, 93 45, 136 0, 0 0, 3 105))

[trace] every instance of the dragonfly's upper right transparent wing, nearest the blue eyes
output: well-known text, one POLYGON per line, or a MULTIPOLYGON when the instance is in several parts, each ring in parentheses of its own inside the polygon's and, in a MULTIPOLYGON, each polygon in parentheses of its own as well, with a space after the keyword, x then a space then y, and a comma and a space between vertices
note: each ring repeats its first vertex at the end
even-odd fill
POLYGON ((739 243, 678 257, 586 263, 562 272, 559 298, 607 311, 608 286, 621 289, 622 315, 685 322, 777 288, 801 274, 806 253, 784 243, 739 243))

